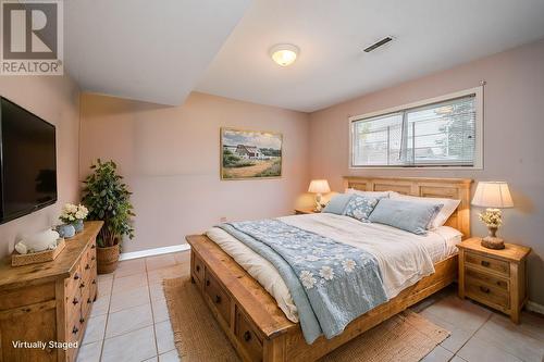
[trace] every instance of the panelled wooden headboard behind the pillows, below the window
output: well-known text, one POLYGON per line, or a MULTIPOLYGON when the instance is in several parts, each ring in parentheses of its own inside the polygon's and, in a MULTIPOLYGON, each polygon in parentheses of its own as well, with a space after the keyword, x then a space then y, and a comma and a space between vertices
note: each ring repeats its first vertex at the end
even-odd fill
POLYGON ((470 237, 470 185, 469 178, 420 178, 420 177, 359 177, 344 176, 344 189, 361 191, 397 191, 398 194, 461 200, 446 224, 470 237))

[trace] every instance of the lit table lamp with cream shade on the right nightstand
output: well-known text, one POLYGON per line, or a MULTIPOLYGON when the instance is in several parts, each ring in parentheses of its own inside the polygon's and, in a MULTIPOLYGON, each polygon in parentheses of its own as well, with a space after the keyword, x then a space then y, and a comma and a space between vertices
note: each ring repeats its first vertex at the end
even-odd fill
POLYGON ((478 214, 490 230, 490 235, 482 239, 482 246, 489 249, 504 249, 505 242, 496 234, 503 224, 500 209, 514 208, 508 184, 504 182, 478 183, 472 204, 487 208, 485 212, 478 214))

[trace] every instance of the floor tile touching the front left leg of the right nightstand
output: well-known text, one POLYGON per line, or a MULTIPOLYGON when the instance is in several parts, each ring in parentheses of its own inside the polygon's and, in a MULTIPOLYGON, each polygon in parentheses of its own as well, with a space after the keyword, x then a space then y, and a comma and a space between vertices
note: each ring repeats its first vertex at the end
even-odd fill
POLYGON ((457 296, 446 297, 424 310, 463 330, 475 332, 491 315, 491 311, 461 300, 457 296))

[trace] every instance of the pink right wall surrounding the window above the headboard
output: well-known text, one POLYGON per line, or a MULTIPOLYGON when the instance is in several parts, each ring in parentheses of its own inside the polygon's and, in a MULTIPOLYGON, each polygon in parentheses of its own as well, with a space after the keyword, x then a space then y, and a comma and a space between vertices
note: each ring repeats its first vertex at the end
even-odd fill
MULTIPOLYGON (((531 300, 544 304, 544 40, 383 89, 310 115, 310 174, 341 190, 343 175, 507 180, 515 209, 500 234, 533 248, 531 300), (477 87, 485 80, 484 170, 349 170, 348 116, 477 87)), ((472 234, 485 235, 472 212, 472 234)))

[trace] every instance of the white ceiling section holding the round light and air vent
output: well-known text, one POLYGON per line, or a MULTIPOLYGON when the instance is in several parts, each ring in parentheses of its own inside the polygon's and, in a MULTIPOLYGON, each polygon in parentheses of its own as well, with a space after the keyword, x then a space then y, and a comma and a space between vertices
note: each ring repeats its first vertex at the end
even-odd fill
POLYGON ((542 37, 542 0, 254 0, 196 89, 309 112, 542 37))

